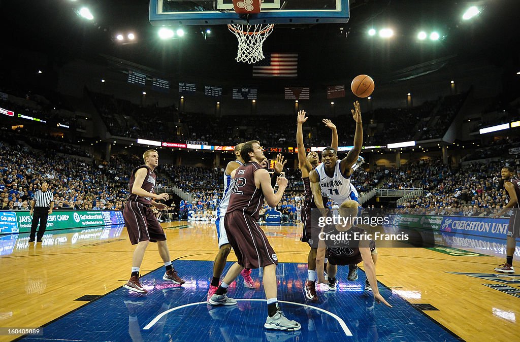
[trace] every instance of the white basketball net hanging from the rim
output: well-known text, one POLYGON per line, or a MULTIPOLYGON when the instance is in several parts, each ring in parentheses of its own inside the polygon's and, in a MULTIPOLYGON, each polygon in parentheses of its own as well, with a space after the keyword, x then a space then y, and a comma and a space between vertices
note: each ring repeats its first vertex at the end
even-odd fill
POLYGON ((242 25, 229 24, 229 31, 238 39, 237 62, 256 63, 265 58, 262 48, 265 39, 271 34, 274 24, 242 25))

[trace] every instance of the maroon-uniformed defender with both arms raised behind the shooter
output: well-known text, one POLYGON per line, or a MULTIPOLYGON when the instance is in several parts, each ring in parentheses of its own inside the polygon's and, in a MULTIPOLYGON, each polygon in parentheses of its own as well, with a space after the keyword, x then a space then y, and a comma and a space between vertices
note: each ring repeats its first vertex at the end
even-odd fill
MULTIPOLYGON (((306 122, 308 117, 305 117, 305 111, 301 110, 298 112, 298 127, 296 130, 296 144, 298 146, 298 162, 300 163, 300 171, 302 172, 302 180, 305 187, 304 193, 304 204, 302 206, 302 222, 303 222, 303 234, 302 242, 307 242, 310 246, 309 256, 307 257, 307 269, 308 269, 308 280, 305 284, 305 297, 310 300, 318 300, 316 294, 316 251, 317 248, 313 247, 313 242, 318 241, 318 236, 311 236, 312 227, 318 227, 318 214, 311 215, 311 209, 315 209, 313 212, 317 212, 317 206, 314 203, 313 192, 310 189, 309 174, 312 170, 320 163, 320 157, 317 152, 309 152, 305 155, 305 146, 303 143, 303 123, 306 122)), ((331 146, 337 151, 338 138, 336 125, 328 119, 323 119, 322 122, 332 130, 332 143, 331 146)), ((327 198, 322 198, 323 203, 327 203, 327 198)))

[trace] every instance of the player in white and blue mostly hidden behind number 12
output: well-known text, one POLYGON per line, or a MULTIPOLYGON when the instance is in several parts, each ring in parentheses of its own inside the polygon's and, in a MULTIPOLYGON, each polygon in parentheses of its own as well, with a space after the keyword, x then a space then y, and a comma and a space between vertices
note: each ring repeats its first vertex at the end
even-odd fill
MULTIPOLYGON (((226 209, 229 204, 229 197, 231 195, 231 189, 233 185, 231 172, 239 168, 244 163, 244 160, 240 156, 240 149, 242 145, 243 143, 239 143, 237 146, 235 146, 235 156, 237 159, 229 162, 226 166, 226 171, 224 172, 224 192, 222 194, 222 200, 220 200, 220 203, 217 206, 217 219, 215 221, 218 236, 218 253, 215 256, 215 261, 213 262, 213 279, 211 281, 209 291, 207 292, 207 298, 210 298, 215 293, 215 291, 217 291, 220 275, 222 275, 222 272, 224 271, 227 257, 229 252, 231 252, 231 245, 229 244, 226 229, 224 228, 224 216, 226 215, 226 209)), ((244 278, 244 286, 255 288, 255 284, 251 278, 251 270, 244 268, 241 274, 244 278)))

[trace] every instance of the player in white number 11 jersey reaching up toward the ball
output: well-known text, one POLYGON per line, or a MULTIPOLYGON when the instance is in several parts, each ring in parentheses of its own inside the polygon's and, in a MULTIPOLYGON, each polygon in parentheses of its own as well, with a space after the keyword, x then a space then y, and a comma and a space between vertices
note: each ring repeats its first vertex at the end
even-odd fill
MULTIPOLYGON (((327 147, 321 151, 321 164, 310 174, 310 188, 313 191, 314 202, 318 208, 324 208, 322 196, 328 196, 338 205, 350 198, 350 176, 354 173, 353 166, 359 159, 363 146, 363 123, 361 121, 361 109, 359 102, 354 102, 351 110, 356 121, 356 133, 354 134, 354 147, 348 151, 341 161, 337 159, 337 151, 327 147)), ((358 166, 359 167, 359 166, 358 166)), ((357 167, 356 167, 357 168, 357 167)), ((316 270, 319 272, 319 270, 316 270)), ((348 280, 357 280, 357 266, 349 265, 348 280)))

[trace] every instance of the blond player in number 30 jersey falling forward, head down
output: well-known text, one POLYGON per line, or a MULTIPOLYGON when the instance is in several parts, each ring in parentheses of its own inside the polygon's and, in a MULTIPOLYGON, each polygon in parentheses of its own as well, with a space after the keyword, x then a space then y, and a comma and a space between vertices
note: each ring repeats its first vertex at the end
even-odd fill
POLYGON ((339 209, 339 215, 343 218, 341 225, 323 227, 319 234, 318 251, 316 253, 316 273, 318 283, 327 284, 329 290, 336 290, 337 266, 355 265, 361 261, 365 264, 367 280, 365 281, 366 290, 372 291, 374 299, 378 302, 392 307, 381 296, 378 288, 378 281, 375 278, 375 262, 377 251, 375 242, 363 239, 366 231, 360 227, 353 226, 352 220, 357 216, 359 203, 353 200, 346 200, 339 209), (323 276, 323 262, 328 257, 327 265, 328 281, 323 276))

